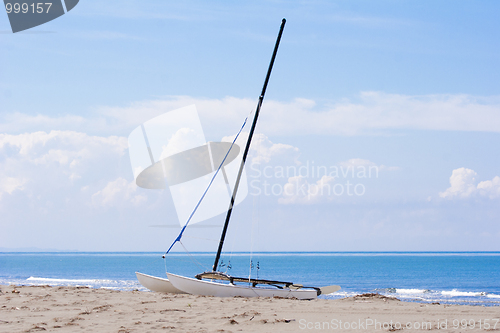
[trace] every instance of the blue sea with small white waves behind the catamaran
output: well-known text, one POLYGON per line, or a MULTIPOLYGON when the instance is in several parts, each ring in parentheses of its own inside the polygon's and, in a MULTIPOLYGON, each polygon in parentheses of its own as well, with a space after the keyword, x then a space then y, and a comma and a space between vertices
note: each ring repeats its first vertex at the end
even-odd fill
MULTIPOLYGON (((135 272, 210 271, 214 253, 0 252, 1 285, 140 290, 135 272)), ((304 286, 340 285, 324 299, 379 293, 402 301, 500 306, 500 252, 232 253, 219 270, 304 286)))

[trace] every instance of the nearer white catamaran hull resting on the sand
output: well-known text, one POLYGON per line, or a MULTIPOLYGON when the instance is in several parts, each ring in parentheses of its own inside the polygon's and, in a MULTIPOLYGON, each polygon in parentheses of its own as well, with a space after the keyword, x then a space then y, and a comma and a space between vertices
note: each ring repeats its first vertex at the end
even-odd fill
POLYGON ((167 273, 172 285, 191 295, 217 296, 217 297, 283 297, 298 299, 315 299, 318 293, 314 289, 278 289, 265 287, 246 287, 234 284, 217 283, 192 279, 185 276, 167 273))

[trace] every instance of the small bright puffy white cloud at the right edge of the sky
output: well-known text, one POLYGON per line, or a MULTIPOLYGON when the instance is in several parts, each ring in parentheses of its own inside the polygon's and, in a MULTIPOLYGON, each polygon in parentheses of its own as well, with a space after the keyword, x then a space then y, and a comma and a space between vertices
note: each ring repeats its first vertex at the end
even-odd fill
POLYGON ((500 197, 500 177, 492 180, 482 181, 477 184, 477 173, 467 168, 453 170, 450 177, 450 187, 439 196, 445 199, 466 199, 474 196, 488 197, 490 199, 500 197), (477 184, 477 185, 476 185, 477 184))

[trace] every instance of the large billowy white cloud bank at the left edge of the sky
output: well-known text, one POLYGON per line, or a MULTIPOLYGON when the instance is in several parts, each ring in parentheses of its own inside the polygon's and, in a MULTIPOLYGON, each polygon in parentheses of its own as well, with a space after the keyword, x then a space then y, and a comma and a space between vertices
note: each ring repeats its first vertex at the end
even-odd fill
POLYGON ((81 197, 80 188, 95 188, 116 177, 117 161, 126 149, 127 139, 117 136, 74 131, 0 134, 0 199, 19 192, 22 196, 15 202, 27 207, 90 201, 90 196, 81 197))

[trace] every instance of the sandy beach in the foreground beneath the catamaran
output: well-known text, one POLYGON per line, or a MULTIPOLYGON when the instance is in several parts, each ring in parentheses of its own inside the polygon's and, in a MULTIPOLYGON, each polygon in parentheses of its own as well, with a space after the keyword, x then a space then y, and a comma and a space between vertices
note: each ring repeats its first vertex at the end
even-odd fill
POLYGON ((500 307, 216 298, 87 287, 1 286, 1 332, 500 331, 500 307))

